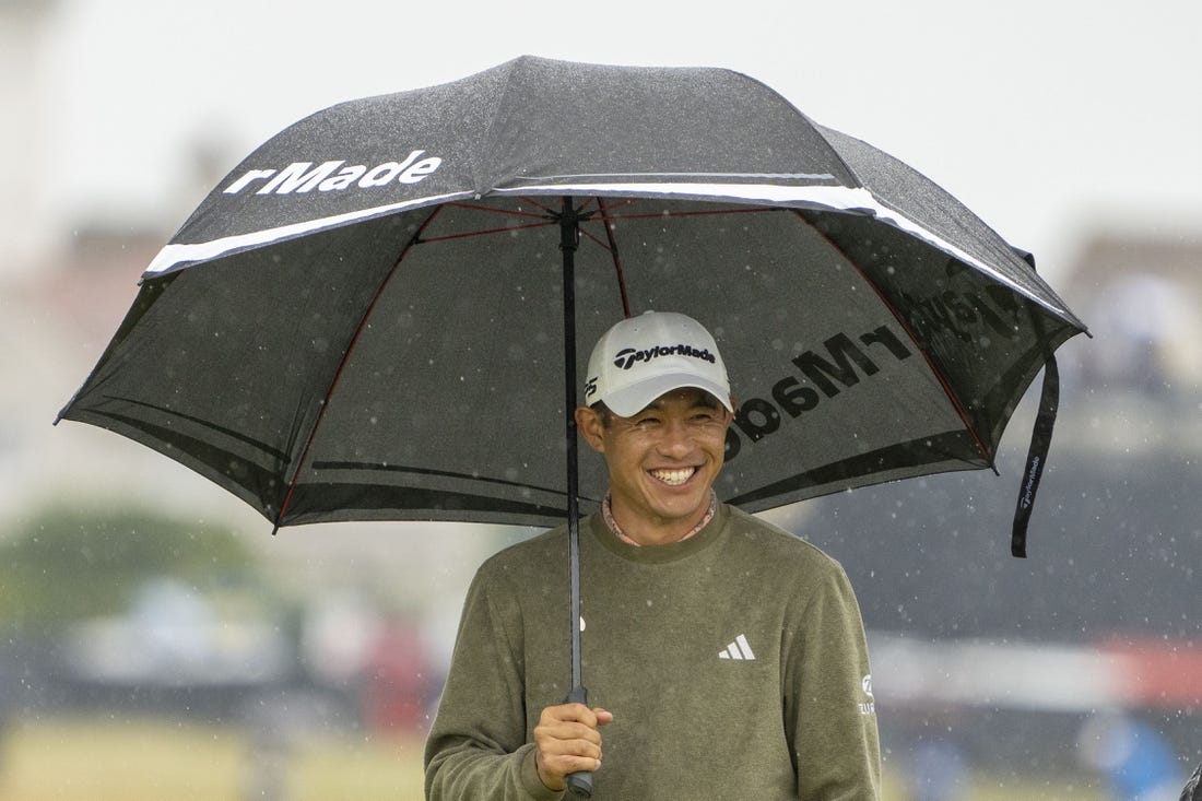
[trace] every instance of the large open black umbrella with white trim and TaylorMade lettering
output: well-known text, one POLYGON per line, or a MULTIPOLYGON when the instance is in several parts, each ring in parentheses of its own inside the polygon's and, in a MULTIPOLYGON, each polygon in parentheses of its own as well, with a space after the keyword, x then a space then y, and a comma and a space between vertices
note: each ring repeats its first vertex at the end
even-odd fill
POLYGON ((566 516, 575 539, 605 488, 577 479, 575 343, 647 309, 718 338, 740 408, 716 488, 749 511, 993 468, 1045 366, 1054 416, 1052 354, 1084 331, 939 186, 751 78, 526 57, 258 148, 60 416, 275 527, 566 516))

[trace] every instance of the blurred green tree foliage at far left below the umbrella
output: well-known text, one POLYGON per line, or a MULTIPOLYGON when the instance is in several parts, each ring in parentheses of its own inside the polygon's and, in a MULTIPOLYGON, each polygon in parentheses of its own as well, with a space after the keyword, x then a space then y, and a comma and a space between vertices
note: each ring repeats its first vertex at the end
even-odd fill
POLYGON ((48 508, 0 536, 0 623, 55 628, 123 611, 150 577, 204 588, 254 569, 227 528, 136 508, 48 508))

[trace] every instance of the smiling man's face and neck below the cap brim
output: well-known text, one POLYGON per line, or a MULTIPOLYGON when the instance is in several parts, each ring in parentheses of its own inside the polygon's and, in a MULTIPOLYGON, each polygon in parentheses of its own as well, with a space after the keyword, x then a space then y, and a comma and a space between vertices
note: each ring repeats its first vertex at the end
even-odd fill
POLYGON ((674 390, 632 417, 577 410, 577 426, 605 455, 614 518, 643 545, 673 542, 701 521, 722 468, 731 413, 701 390, 674 390))

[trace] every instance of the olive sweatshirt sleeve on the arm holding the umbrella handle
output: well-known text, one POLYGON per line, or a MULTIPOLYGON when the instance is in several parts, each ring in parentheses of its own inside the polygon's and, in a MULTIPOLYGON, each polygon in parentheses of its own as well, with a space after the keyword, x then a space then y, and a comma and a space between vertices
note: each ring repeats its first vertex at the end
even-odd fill
POLYGON ((526 742, 522 622, 495 603, 487 568, 472 581, 439 712, 426 741, 428 801, 561 799, 538 779, 526 742))

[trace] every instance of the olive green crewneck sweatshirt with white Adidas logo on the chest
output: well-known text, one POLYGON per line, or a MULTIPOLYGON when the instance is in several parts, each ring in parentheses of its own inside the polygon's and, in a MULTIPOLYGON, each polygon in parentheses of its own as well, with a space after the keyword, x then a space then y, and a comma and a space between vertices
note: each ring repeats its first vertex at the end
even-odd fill
MULTIPOLYGON (((636 547, 581 522, 582 659, 601 729, 596 801, 875 800, 863 623, 843 568, 719 504, 696 535, 636 547)), ((567 535, 487 560, 426 746, 429 801, 558 799, 534 726, 570 687, 567 535)))

